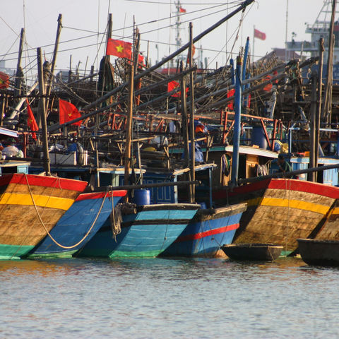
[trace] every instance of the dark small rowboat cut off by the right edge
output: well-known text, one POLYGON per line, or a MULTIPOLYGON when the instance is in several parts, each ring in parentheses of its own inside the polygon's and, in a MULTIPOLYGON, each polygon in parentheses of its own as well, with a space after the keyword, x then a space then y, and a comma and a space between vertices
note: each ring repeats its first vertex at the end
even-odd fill
POLYGON ((334 240, 298 239, 299 253, 308 265, 339 266, 339 242, 334 240))

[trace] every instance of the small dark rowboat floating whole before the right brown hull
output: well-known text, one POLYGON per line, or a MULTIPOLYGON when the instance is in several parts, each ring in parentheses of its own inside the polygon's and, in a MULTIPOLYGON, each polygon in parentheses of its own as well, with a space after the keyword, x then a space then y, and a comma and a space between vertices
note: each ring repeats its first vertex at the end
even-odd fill
POLYGON ((273 261, 280 256, 283 246, 275 244, 230 244, 221 247, 234 260, 273 261))

